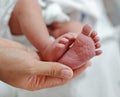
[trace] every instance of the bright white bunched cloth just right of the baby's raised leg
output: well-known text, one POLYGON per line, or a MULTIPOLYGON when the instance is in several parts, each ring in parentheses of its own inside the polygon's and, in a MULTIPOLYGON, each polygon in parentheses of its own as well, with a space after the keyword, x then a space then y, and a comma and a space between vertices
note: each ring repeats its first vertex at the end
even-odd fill
POLYGON ((62 8, 58 4, 47 4, 45 2, 41 2, 41 0, 39 0, 39 3, 42 5, 43 17, 47 25, 50 25, 53 22, 65 22, 70 20, 70 18, 62 11, 62 8))

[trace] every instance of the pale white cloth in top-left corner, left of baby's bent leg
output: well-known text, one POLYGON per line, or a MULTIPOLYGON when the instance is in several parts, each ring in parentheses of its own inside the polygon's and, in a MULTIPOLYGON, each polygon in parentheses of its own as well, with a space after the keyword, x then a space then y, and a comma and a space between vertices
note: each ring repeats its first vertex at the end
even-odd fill
POLYGON ((8 21, 15 2, 15 0, 0 0, 0 37, 11 39, 8 21))

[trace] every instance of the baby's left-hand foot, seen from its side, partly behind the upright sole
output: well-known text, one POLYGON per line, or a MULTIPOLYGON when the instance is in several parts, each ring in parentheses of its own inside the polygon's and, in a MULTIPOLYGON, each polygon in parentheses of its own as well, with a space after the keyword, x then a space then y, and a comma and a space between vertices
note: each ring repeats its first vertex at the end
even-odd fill
POLYGON ((57 61, 69 49, 69 46, 75 41, 77 34, 66 33, 57 38, 52 44, 49 44, 44 50, 42 56, 46 61, 57 61))

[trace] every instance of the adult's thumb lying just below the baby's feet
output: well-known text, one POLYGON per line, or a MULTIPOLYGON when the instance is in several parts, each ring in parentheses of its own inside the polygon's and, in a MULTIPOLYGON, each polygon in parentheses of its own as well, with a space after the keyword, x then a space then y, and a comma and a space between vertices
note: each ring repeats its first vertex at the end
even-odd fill
POLYGON ((37 61, 35 65, 35 71, 38 75, 47 75, 51 77, 60 77, 70 79, 73 77, 73 71, 71 68, 57 63, 57 62, 42 62, 37 61))

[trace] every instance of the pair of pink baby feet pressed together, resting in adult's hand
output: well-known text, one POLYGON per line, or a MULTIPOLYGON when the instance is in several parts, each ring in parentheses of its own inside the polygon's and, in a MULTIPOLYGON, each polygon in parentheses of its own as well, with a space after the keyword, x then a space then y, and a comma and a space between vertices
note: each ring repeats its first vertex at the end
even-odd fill
POLYGON ((52 46, 44 51, 43 59, 59 61, 72 69, 77 69, 91 58, 102 53, 97 33, 89 25, 85 25, 81 33, 66 33, 57 38, 52 46))

